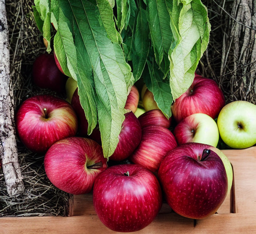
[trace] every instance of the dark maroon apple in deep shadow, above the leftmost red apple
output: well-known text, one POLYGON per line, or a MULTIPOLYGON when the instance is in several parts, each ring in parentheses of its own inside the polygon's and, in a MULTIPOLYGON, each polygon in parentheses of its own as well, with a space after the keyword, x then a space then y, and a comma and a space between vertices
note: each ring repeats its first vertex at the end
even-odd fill
POLYGON ((61 93, 65 90, 66 80, 67 77, 59 71, 52 54, 42 54, 37 57, 33 64, 35 85, 61 93))

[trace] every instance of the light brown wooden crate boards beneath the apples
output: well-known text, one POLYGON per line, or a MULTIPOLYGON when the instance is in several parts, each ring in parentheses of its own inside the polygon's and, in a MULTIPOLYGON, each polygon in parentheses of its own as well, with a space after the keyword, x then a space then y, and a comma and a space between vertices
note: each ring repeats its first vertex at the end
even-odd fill
MULTIPOLYGON (((163 204, 156 219, 139 234, 169 233, 256 233, 256 147, 245 150, 224 150, 233 165, 235 177, 235 205, 237 213, 230 213, 230 197, 209 218, 184 218, 163 204)), ((0 218, 0 234, 7 233, 63 233, 113 234, 98 219, 92 205, 92 194, 74 196, 72 217, 0 218)))

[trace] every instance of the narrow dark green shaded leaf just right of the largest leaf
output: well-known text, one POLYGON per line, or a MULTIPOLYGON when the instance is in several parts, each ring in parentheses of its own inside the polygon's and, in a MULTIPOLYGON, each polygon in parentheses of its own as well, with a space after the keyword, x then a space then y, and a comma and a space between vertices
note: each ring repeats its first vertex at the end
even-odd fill
POLYGON ((132 65, 135 82, 140 78, 149 53, 149 25, 146 11, 138 7, 132 40, 132 65))

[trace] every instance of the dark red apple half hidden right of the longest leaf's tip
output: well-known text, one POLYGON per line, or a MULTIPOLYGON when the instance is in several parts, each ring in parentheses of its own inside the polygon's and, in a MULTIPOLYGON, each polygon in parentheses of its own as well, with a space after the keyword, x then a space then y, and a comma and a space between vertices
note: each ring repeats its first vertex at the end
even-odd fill
POLYGON ((115 152, 109 158, 120 161, 128 158, 137 148, 141 141, 141 127, 136 116, 131 112, 125 114, 122 129, 118 136, 119 142, 115 152))

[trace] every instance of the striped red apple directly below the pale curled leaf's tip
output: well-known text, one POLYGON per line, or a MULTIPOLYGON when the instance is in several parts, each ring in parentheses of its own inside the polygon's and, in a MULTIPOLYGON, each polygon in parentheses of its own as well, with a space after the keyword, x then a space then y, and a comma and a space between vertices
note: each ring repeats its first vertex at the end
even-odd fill
POLYGON ((215 119, 224 105, 225 99, 217 83, 195 74, 191 86, 175 100, 171 109, 174 119, 179 123, 195 113, 207 114, 215 119))

